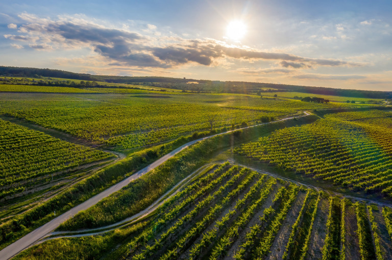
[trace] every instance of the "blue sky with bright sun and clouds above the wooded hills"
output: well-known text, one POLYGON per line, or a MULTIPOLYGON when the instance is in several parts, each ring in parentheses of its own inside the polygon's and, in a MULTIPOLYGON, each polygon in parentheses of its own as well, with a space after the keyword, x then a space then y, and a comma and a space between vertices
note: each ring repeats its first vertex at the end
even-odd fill
POLYGON ((390 0, 0 1, 0 65, 392 91, 391 13, 390 0))

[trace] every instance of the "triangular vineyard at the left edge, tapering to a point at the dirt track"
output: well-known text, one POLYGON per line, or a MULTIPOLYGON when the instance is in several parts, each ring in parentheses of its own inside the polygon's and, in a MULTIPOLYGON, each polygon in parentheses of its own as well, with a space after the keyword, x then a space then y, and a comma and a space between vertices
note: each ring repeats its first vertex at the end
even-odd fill
POLYGON ((0 199, 67 176, 69 169, 112 157, 0 120, 0 199))

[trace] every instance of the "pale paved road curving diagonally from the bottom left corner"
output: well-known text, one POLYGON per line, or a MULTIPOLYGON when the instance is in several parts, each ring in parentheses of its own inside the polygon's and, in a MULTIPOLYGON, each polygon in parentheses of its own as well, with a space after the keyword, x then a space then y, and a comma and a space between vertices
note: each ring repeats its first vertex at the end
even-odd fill
MULTIPOLYGON (((305 115, 302 115, 300 117, 306 117, 307 115, 310 115, 309 112, 304 111, 304 113, 305 113, 305 115)), ((296 117, 296 118, 300 118, 300 117, 296 117)), ((295 117, 288 117, 288 118, 280 119, 280 120, 269 122, 269 123, 285 121, 285 120, 289 120, 289 119, 293 119, 293 118, 295 118, 295 117)), ((95 204, 99 203, 99 201, 101 201, 105 197, 107 197, 107 196, 113 194, 114 192, 119 191, 120 189, 124 188, 130 182, 140 178, 141 176, 145 175, 147 172, 155 169, 156 167, 158 167, 162 163, 166 162, 168 159, 170 159, 171 157, 175 156, 176 154, 178 154, 182 150, 186 149, 187 147, 193 145, 194 143, 196 143, 198 141, 202 141, 202 140, 208 139, 208 138, 211 138, 211 137, 214 137, 214 136, 217 136, 217 135, 222 135, 222 134, 234 132, 234 131, 237 131, 237 130, 247 129, 247 128, 256 127, 256 126, 261 126, 261 125, 265 125, 265 124, 269 124, 269 123, 262 123, 262 124, 258 124, 258 125, 243 127, 243 128, 239 128, 239 129, 235 129, 235 130, 230 130, 230 131, 227 131, 227 132, 206 136, 206 137, 203 137, 203 138, 200 138, 200 139, 193 140, 193 141, 185 143, 185 145, 183 145, 183 146, 181 146, 181 147, 171 151, 170 153, 162 156, 160 159, 156 160, 152 164, 150 164, 150 165, 144 167, 143 169, 139 170, 138 172, 136 172, 132 176, 130 176, 130 177, 120 181, 119 183, 111 186, 110 188, 104 190, 103 192, 101 192, 99 194, 96 194, 95 196, 87 199, 82 204, 79 204, 78 206, 68 210, 67 212, 61 214, 57 218, 52 219, 51 221, 49 221, 46 224, 38 227, 37 229, 33 230, 32 232, 30 232, 26 236, 22 237, 21 239, 15 241, 11 245, 7 246, 6 248, 4 248, 3 250, 0 251, 0 259, 2 259, 2 260, 10 259, 11 257, 13 257, 16 254, 18 254, 19 252, 21 252, 22 250, 30 247, 36 241, 38 241, 41 238, 45 237, 46 234, 51 233, 52 230, 56 229, 61 223, 65 222, 67 219, 73 217, 74 215, 76 215, 80 211, 87 210, 91 206, 94 206, 95 204)))

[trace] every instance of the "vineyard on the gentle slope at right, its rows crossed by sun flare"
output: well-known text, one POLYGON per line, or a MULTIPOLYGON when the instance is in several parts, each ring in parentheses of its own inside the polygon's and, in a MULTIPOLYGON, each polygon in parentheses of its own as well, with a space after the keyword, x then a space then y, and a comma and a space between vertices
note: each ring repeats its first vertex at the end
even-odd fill
POLYGON ((234 152, 353 190, 392 196, 392 113, 326 115, 278 130, 234 152))

